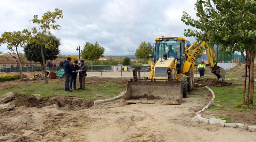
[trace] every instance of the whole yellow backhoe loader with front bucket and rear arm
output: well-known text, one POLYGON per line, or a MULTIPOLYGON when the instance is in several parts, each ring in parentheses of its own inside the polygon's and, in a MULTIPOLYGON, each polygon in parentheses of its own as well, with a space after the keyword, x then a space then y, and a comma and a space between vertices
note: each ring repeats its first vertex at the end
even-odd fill
MULTIPOLYGON (((205 47, 211 72, 219 81, 224 81, 225 70, 217 66, 212 47, 206 42, 189 41, 182 37, 155 39, 155 50, 147 78, 138 78, 133 70, 133 78, 127 83, 125 99, 129 103, 180 104, 182 97, 194 88, 194 61, 205 47), (187 48, 186 48, 187 47, 187 48)), ((148 43, 148 48, 150 48, 148 43)))

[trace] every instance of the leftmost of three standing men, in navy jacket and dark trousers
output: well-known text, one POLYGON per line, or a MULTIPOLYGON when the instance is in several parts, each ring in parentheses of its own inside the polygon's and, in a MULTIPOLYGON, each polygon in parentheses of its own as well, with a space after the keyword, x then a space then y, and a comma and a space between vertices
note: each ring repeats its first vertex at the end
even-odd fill
POLYGON ((64 66, 64 73, 65 73, 65 91, 72 92, 72 90, 69 89, 69 79, 70 79, 70 73, 71 72, 77 72, 75 69, 70 67, 69 62, 71 61, 71 58, 68 57, 67 60, 64 60, 63 66, 64 66))

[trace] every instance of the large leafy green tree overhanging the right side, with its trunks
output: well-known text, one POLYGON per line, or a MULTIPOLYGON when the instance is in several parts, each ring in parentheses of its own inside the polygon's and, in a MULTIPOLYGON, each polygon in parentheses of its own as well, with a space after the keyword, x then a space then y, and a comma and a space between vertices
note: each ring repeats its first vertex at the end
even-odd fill
MULTIPOLYGON (((196 16, 192 19, 183 12, 181 20, 196 30, 184 29, 185 36, 195 36, 199 41, 207 41, 209 46, 221 46, 221 51, 239 51, 249 68, 248 99, 253 102, 254 75, 253 59, 256 51, 256 3, 254 0, 197 0, 196 16), (246 56, 244 56, 244 52, 246 56)), ((245 76, 246 77, 246 76, 245 76)), ((244 82, 244 88, 246 81, 244 82)), ((246 103, 244 90, 244 104, 246 103)))

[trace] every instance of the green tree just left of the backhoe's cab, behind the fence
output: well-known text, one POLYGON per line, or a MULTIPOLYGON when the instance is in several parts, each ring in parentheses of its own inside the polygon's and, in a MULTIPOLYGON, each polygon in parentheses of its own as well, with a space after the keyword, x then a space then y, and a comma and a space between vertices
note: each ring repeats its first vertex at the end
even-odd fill
POLYGON ((152 49, 153 46, 150 46, 150 49, 148 49, 148 44, 146 43, 146 41, 144 41, 140 43, 139 48, 136 49, 134 54, 137 58, 144 60, 146 64, 146 61, 150 58, 149 56, 147 56, 147 54, 154 54, 152 53, 152 49))

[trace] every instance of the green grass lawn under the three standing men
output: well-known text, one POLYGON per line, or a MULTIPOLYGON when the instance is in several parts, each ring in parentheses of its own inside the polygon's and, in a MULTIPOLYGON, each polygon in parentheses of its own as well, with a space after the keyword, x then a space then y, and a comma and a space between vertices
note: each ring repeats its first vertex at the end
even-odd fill
MULTIPOLYGON (((77 87, 79 83, 77 84, 77 87)), ((7 90, 0 91, 0 94, 7 92, 14 92, 20 94, 40 94, 41 96, 50 97, 55 95, 64 95, 64 96, 76 96, 84 97, 92 100, 106 99, 117 96, 120 92, 125 91, 126 88, 117 83, 113 82, 104 82, 104 83, 91 83, 85 84, 85 90, 73 90, 73 92, 68 92, 64 90, 63 83, 34 83, 29 86, 15 86, 8 88, 7 90)))

